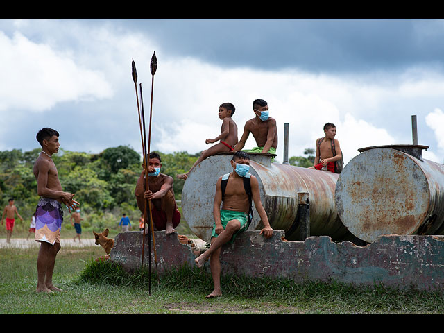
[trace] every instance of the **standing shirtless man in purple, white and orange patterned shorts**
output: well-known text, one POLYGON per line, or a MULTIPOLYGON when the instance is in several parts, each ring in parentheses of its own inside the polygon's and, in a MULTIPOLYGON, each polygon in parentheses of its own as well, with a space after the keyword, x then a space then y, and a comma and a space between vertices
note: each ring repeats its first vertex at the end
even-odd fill
POLYGON ((37 194, 40 196, 35 210, 35 240, 40 242, 37 257, 37 291, 62 291, 53 285, 54 264, 60 250, 60 230, 62 228, 62 204, 69 212, 75 209, 78 202, 74 194, 62 191, 58 179, 56 164, 52 155, 58 152, 59 134, 52 128, 42 128, 37 133, 37 141, 42 146, 34 164, 34 175, 37 179, 37 194))

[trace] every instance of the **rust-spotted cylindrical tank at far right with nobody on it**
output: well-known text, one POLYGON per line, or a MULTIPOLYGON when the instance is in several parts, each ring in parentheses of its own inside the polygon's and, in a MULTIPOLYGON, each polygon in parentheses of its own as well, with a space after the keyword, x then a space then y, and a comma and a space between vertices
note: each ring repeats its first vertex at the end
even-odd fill
POLYGON ((341 221, 359 239, 442 234, 444 166, 422 159, 427 146, 361 148, 336 183, 341 221))

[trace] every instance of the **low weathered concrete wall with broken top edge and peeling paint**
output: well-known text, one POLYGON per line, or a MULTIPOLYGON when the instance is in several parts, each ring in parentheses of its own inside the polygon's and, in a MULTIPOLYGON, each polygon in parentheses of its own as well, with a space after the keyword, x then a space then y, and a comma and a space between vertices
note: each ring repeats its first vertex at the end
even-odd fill
MULTIPOLYGON (((118 234, 110 259, 131 270, 141 264, 142 235, 118 234)), ((147 238, 146 238, 147 242, 147 238)), ((157 269, 194 265, 190 246, 180 244, 177 234, 155 232, 157 269)), ((145 244, 144 264, 148 264, 145 244)), ((152 246, 153 248, 153 246, 152 246)), ((155 269, 154 258, 151 268, 155 269)), ((336 244, 330 237, 285 241, 284 231, 264 239, 259 231, 239 234, 221 254, 223 273, 387 286, 441 289, 444 285, 444 237, 383 235, 373 244, 355 246, 350 241, 336 244)), ((208 262, 205 269, 209 271, 208 262)))

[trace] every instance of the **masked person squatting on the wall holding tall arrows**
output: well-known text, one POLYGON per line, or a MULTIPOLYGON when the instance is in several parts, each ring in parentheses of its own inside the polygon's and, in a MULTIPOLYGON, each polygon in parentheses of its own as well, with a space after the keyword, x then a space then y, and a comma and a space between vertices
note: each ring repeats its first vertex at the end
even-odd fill
MULTIPOLYGON (((180 212, 176 205, 173 191, 173 177, 160 173, 162 160, 160 155, 154 152, 148 158, 148 186, 145 191, 145 168, 137 180, 135 196, 140 212, 144 214, 145 202, 151 203, 151 216, 153 217, 154 230, 165 230, 166 234, 176 232, 180 223, 180 212)), ((149 216, 145 223, 150 223, 149 216)), ((145 234, 148 231, 145 230, 145 234)), ((142 231, 143 233, 143 231, 142 231)))

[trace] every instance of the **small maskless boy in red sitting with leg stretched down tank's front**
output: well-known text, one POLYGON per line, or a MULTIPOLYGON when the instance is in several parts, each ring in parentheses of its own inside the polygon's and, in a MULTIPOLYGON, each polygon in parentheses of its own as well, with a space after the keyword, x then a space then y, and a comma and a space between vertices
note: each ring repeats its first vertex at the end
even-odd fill
POLYGON ((234 111, 236 111, 236 108, 232 103, 223 103, 219 106, 219 119, 222 120, 221 134, 214 139, 206 139, 205 144, 214 144, 218 140, 221 140, 221 142, 200 153, 200 157, 191 169, 187 173, 176 175, 177 178, 187 180, 191 170, 205 158, 216 155, 216 153, 233 151, 234 145, 237 144, 237 125, 232 119, 234 111))

